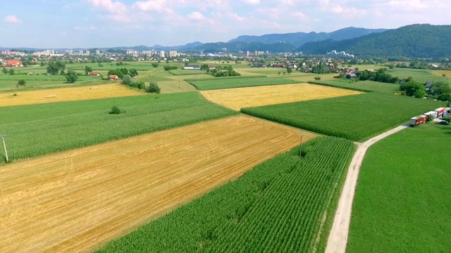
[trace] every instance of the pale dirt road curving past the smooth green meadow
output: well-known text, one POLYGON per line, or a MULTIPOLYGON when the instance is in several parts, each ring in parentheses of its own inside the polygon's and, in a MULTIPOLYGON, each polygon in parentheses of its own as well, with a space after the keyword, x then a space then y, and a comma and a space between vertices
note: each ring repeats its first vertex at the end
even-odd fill
POLYGON ((347 245, 347 235, 350 228, 352 201, 354 200, 355 187, 357 185, 357 179, 359 177, 359 170, 362 166, 366 150, 387 136, 395 134, 402 129, 405 129, 409 124, 397 126, 395 129, 386 131, 374 138, 365 141, 364 143, 358 143, 358 148, 350 164, 350 168, 347 171, 345 186, 341 193, 340 201, 338 202, 337 212, 335 212, 335 219, 333 220, 332 229, 330 230, 326 253, 344 253, 347 245))

